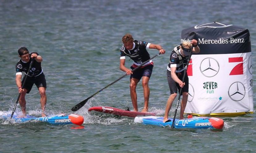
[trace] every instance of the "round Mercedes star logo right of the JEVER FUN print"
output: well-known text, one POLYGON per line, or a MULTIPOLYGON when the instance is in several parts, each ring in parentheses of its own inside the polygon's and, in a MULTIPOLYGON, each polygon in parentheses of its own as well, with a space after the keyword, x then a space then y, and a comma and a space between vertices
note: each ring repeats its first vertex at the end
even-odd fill
POLYGON ((245 97, 245 86, 241 82, 234 82, 230 85, 228 94, 233 101, 240 101, 245 97))

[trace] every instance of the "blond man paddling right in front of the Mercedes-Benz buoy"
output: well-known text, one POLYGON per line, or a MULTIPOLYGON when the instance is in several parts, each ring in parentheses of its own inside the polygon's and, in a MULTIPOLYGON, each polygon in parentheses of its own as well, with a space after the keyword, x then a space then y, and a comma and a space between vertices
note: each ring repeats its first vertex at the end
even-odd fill
POLYGON ((191 47, 193 53, 199 53, 200 48, 197 46, 197 40, 193 39, 191 42, 183 41, 182 44, 174 47, 171 55, 170 62, 167 66, 167 80, 170 88, 170 97, 166 103, 165 116, 163 122, 168 120, 172 103, 177 96, 177 90, 182 89, 182 102, 180 107, 180 119, 183 119, 185 107, 188 98, 188 76, 184 74, 185 66, 190 55, 191 47), (193 47, 194 46, 194 47, 193 47), (185 75, 184 80, 183 75, 185 75), (183 82, 184 81, 184 82, 183 82), (177 89, 178 88, 178 89, 177 89))

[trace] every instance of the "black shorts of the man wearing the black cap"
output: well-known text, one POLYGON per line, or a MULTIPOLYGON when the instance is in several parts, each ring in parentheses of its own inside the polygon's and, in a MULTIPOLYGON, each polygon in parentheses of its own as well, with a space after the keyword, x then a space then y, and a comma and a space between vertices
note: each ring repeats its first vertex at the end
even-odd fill
MULTIPOLYGON (((25 79, 25 76, 23 77, 23 80, 22 80, 22 84, 24 82, 24 79, 25 79)), ((27 76, 27 80, 24 84, 24 87, 25 89, 27 89, 27 94, 31 91, 32 87, 33 87, 33 84, 36 84, 36 87, 37 89, 39 87, 45 87, 46 88, 46 80, 45 80, 45 76, 44 76, 44 73, 40 74, 39 76, 36 76, 36 77, 30 77, 30 76, 27 76)))

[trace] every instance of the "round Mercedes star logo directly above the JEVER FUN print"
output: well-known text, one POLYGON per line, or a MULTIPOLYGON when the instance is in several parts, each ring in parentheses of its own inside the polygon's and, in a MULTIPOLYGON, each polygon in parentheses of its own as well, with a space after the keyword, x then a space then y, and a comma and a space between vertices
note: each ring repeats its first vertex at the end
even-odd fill
POLYGON ((206 77, 215 76, 220 70, 218 61, 214 58, 204 58, 200 64, 200 71, 206 77))

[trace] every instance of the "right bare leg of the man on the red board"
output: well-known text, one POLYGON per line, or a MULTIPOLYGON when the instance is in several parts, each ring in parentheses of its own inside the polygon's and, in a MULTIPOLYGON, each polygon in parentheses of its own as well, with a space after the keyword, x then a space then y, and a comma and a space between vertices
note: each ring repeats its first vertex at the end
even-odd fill
POLYGON ((141 112, 148 112, 149 110, 149 77, 143 76, 142 77, 142 87, 144 93, 144 108, 141 112))

